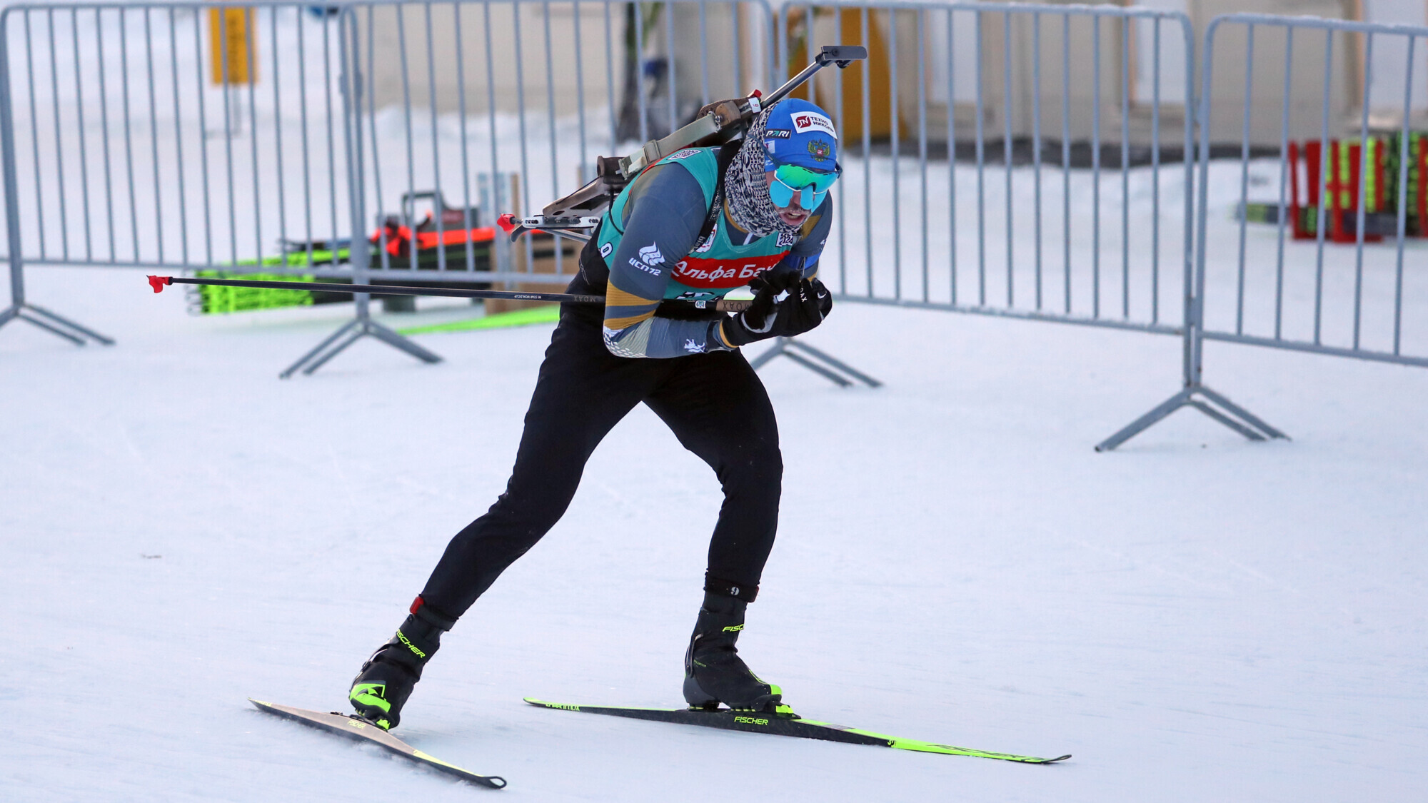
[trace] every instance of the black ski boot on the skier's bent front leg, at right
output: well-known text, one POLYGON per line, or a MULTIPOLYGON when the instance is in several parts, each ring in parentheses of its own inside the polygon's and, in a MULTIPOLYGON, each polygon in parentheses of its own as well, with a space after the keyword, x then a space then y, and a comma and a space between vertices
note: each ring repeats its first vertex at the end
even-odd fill
POLYGON ((694 623, 690 649, 684 653, 684 699, 694 709, 784 712, 781 690, 750 672, 738 657, 738 633, 744 629, 744 600, 704 593, 704 606, 694 623))

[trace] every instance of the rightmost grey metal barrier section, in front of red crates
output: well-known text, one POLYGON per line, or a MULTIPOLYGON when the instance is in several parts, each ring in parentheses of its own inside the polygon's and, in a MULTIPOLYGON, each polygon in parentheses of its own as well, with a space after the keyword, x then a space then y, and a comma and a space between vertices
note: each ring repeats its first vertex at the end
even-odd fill
MULTIPOLYGON (((1230 216, 1222 214, 1224 200, 1210 199, 1205 191, 1215 184, 1210 180, 1210 161, 1201 163, 1198 266, 1202 279, 1210 283, 1204 296, 1205 337, 1428 366, 1428 309, 1424 309, 1428 303, 1428 276, 1421 270, 1404 270, 1405 251, 1417 251, 1421 260, 1425 256, 1421 239, 1428 236, 1418 229, 1421 203, 1414 203, 1418 199, 1409 196, 1411 190, 1422 193, 1424 180, 1422 176, 1417 183, 1411 179, 1419 170, 1424 151, 1418 137, 1428 134, 1428 74, 1415 76, 1415 67, 1421 69, 1421 57, 1415 53, 1428 50, 1428 27, 1232 14, 1211 24, 1205 33, 1205 49, 1204 81, 1210 91, 1201 113, 1207 119, 1217 110, 1220 87, 1228 81, 1242 81, 1250 87, 1244 90, 1241 104, 1241 159, 1238 164, 1217 163, 1214 167, 1238 174, 1241 207, 1250 203, 1251 174, 1261 171, 1274 190, 1271 203, 1277 211, 1272 236, 1265 230, 1262 236, 1251 237, 1248 216, 1240 214, 1235 237, 1208 241, 1207 233, 1217 223, 1210 219, 1211 207, 1215 207, 1227 234, 1230 216), (1317 119, 1301 116, 1305 119, 1294 120, 1289 94, 1285 93, 1281 114, 1277 120, 1271 119, 1278 124, 1281 153, 1277 160, 1255 161, 1250 157, 1251 130, 1258 121, 1250 103, 1257 74, 1257 37, 1261 51, 1267 44, 1278 44, 1284 50, 1282 61, 1268 64, 1271 77, 1291 86, 1304 80, 1322 87, 1315 110, 1318 114, 1312 116, 1317 119), (1267 39, 1271 41, 1267 43, 1267 39), (1212 56, 1217 51, 1230 56, 1241 46, 1244 74, 1215 79, 1212 56), (1322 76, 1295 74, 1295 50, 1302 53, 1308 49, 1322 49, 1322 76), (1375 59, 1385 50, 1402 54, 1397 70, 1392 70, 1392 61, 1399 59, 1388 64, 1375 59), (1361 66, 1355 66, 1355 60, 1361 66), (1349 86, 1335 87, 1331 77, 1335 67, 1344 64, 1355 67, 1359 74, 1349 86), (1272 74, 1275 67, 1279 69, 1278 76, 1272 74), (1358 97, 1354 97, 1355 93, 1358 97), (1289 161, 1291 150, 1302 151, 1302 147, 1291 146, 1315 139, 1327 147, 1317 149, 1319 164, 1312 170, 1317 173, 1312 184, 1317 186, 1305 187, 1301 183, 1304 177, 1294 176, 1297 166, 1289 161), (1335 139, 1342 144, 1341 159, 1331 163, 1335 139), (1362 147, 1364 143, 1369 147, 1362 147), (1375 149, 1375 143, 1394 147, 1375 149), (1338 173, 1347 160, 1349 180, 1344 181, 1338 173), (1385 170, 1388 166, 1392 169, 1385 170), (1294 184, 1312 199, 1309 214, 1324 224, 1295 226, 1292 207, 1305 204, 1288 196, 1294 184), (1357 199, 1347 209, 1335 199, 1345 194, 1357 199), (1375 197, 1382 194, 1387 197, 1375 197), (1374 226, 1375 219, 1387 226, 1374 226), (1308 230, 1312 244, 1302 239, 1295 241, 1295 229, 1301 237, 1308 230), (1419 240, 1409 240, 1409 231, 1419 240), (1339 246, 1351 241, 1352 249, 1335 249, 1334 239, 1339 246), (1412 249, 1414 244, 1419 247, 1412 249), (1311 266, 1312 270, 1308 270, 1311 266), (1301 304, 1297 307, 1294 301, 1301 304)), ((1227 63, 1237 61, 1221 61, 1227 63)), ((1259 70, 1264 69, 1261 64, 1259 70)))

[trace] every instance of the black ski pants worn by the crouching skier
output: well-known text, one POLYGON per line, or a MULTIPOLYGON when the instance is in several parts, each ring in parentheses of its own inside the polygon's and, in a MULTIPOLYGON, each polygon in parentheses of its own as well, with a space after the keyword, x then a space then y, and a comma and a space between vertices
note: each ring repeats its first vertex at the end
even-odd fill
MULTIPOLYGON (((758 374, 740 351, 617 357, 605 350, 600 321, 588 314, 594 311, 563 310, 506 493, 451 539, 421 592, 447 616, 466 613, 560 520, 595 446, 641 402, 714 469, 724 489, 710 540, 708 584, 758 587, 774 546, 783 482, 778 426, 758 374)), ((633 470, 658 472, 660 460, 650 454, 633 470)), ((638 484, 640 477, 631 480, 638 484)))

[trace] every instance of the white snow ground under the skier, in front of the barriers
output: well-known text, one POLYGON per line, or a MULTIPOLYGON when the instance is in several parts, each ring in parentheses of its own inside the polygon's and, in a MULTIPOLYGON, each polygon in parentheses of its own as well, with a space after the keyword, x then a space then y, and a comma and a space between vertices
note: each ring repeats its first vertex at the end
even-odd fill
MULTIPOLYGON (((343 709, 500 493, 550 327, 364 340, 350 307, 194 319, 136 271, 27 271, 114 336, 0 330, 6 800, 1419 800, 1428 371, 1207 344, 1288 432, 1182 412, 1174 337, 840 304, 887 384, 764 379, 781 533, 741 640, 798 712, 1051 767, 568 712, 680 703, 714 477, 643 407, 447 637, 400 736, 470 787, 254 710, 343 709), (621 469, 654 464, 631 486, 621 469)), ((431 304, 388 323, 470 314, 431 304)), ((751 349, 757 350, 757 347, 751 349)))

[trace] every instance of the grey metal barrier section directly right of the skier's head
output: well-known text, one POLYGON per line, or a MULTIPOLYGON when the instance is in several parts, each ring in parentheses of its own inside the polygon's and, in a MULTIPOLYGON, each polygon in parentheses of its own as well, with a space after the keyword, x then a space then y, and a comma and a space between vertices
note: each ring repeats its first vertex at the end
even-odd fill
POLYGON ((1185 14, 785 4, 778 30, 784 64, 814 40, 870 49, 847 73, 810 81, 843 131, 830 287, 860 301, 1182 331, 1185 14))

